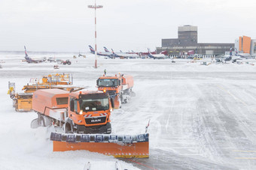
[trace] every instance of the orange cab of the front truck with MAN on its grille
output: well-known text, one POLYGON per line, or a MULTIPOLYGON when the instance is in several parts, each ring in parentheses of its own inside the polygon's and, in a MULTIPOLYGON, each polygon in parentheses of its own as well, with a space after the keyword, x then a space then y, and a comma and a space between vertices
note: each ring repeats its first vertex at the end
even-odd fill
MULTIPOLYGON (((79 91, 69 95, 69 118, 78 133, 111 133, 113 101, 102 91, 79 91)), ((114 103, 113 103, 114 104, 114 103)))

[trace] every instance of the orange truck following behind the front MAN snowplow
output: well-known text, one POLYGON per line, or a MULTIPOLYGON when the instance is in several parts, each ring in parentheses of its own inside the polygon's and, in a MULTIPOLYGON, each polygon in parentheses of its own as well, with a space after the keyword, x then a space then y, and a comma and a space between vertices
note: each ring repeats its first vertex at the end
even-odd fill
POLYGON ((101 76, 97 79, 97 87, 99 91, 104 91, 114 99, 115 109, 121 107, 121 103, 127 103, 131 96, 134 96, 133 76, 101 76))

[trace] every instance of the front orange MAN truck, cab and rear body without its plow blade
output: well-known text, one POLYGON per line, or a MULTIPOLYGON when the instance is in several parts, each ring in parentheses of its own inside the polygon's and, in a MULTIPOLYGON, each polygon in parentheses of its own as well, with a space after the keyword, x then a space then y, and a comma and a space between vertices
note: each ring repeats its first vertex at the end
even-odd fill
POLYGON ((54 125, 64 133, 111 133, 113 100, 102 91, 42 89, 32 97, 38 118, 31 127, 54 125))

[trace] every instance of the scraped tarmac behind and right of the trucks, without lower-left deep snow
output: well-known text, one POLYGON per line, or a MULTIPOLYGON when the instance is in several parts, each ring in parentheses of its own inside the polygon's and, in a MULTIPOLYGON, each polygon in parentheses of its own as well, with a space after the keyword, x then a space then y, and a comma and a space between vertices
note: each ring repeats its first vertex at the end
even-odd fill
POLYGON ((256 169, 256 66, 169 59, 99 59, 99 68, 92 66, 93 58, 59 70, 10 61, 1 78, 20 90, 32 77, 73 73, 75 85, 95 90, 105 68, 133 75, 136 97, 112 113, 112 133, 145 133, 151 120, 150 158, 122 160, 139 169, 256 169))

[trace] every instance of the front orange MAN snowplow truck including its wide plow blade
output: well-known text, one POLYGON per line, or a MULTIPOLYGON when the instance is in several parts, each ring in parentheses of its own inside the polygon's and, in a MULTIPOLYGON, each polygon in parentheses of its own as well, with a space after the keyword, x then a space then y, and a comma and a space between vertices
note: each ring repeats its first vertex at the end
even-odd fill
POLYGON ((32 109, 38 118, 32 121, 31 127, 53 125, 56 132, 64 132, 50 134, 53 151, 87 150, 114 157, 149 157, 148 133, 108 134, 111 133, 112 100, 102 91, 35 91, 32 109))

